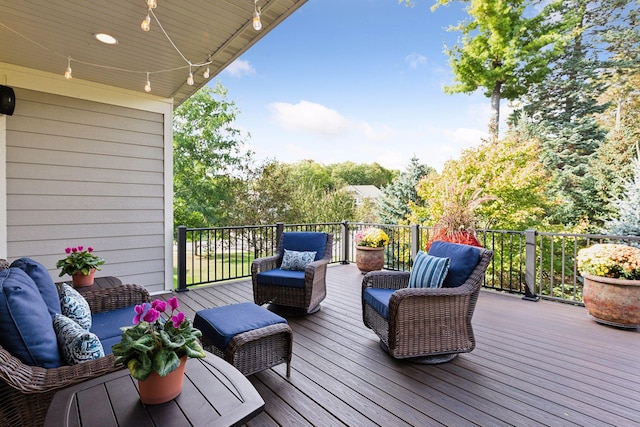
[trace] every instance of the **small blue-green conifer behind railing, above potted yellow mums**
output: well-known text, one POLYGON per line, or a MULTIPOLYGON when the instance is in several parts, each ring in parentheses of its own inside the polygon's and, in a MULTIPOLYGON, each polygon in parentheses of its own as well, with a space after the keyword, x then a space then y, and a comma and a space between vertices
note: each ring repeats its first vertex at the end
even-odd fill
POLYGON ((411 158, 406 172, 400 172, 391 184, 382 188, 382 198, 376 206, 380 222, 383 224, 407 222, 407 217, 411 213, 411 203, 420 203, 416 185, 420 178, 429 172, 435 172, 435 170, 421 165, 417 157, 411 158))

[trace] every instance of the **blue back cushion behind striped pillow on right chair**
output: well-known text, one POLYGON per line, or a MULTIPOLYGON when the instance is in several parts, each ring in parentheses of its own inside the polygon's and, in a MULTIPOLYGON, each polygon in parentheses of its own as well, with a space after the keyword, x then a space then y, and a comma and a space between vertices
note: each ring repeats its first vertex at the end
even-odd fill
POLYGON ((480 248, 436 241, 429 248, 429 255, 441 258, 449 258, 449 273, 444 278, 443 288, 457 288, 467 281, 478 261, 480 261, 480 248))

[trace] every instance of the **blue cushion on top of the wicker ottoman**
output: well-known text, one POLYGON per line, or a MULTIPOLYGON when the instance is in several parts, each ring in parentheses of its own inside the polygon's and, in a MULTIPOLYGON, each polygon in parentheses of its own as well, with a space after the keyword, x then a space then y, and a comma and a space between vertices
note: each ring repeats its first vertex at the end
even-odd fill
POLYGON ((252 302, 208 308, 196 313, 193 327, 224 350, 233 337, 287 320, 252 302))

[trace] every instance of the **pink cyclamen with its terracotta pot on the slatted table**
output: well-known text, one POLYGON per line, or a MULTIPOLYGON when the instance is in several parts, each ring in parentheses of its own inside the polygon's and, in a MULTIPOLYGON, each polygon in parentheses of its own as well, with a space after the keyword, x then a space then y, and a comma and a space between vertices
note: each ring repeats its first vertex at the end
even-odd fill
POLYGON ((182 391, 187 358, 205 357, 202 333, 178 310, 176 297, 136 305, 134 311, 133 326, 121 328, 113 355, 138 380, 142 403, 168 402, 182 391))

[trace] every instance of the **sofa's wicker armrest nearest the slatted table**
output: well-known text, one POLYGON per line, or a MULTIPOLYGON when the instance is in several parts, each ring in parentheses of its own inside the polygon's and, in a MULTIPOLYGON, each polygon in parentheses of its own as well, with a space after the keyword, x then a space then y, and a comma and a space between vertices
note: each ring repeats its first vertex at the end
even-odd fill
POLYGON ((25 365, 0 347, 0 378, 24 394, 37 394, 61 389, 72 384, 122 369, 112 354, 84 363, 59 368, 25 365))

